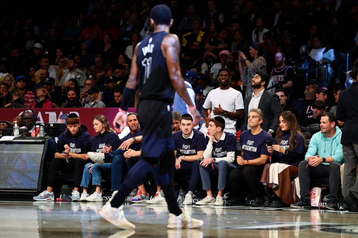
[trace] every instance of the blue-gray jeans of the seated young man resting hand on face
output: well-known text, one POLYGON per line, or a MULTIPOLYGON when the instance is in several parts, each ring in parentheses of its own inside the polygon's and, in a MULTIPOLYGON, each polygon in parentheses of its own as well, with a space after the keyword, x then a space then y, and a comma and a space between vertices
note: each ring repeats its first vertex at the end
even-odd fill
POLYGON ((228 169, 230 169, 231 171, 232 169, 236 168, 236 166, 233 163, 228 162, 226 160, 221 160, 218 163, 213 163, 213 164, 214 164, 214 169, 212 168, 211 164, 209 164, 208 167, 203 167, 199 165, 200 177, 202 178, 202 182, 203 182, 203 189, 204 190, 211 189, 210 174, 213 174, 213 175, 219 175, 218 189, 224 190, 228 169))

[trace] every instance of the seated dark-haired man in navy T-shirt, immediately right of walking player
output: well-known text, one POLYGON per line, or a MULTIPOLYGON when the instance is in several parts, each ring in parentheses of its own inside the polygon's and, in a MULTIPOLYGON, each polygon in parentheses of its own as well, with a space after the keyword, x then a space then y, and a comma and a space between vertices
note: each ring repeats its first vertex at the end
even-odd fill
POLYGON ((200 179, 199 158, 203 158, 206 148, 204 134, 200 131, 193 130, 193 117, 185 113, 180 120, 180 128, 182 131, 175 132, 174 137, 174 154, 176 176, 191 174, 189 191, 185 195, 183 204, 193 204, 193 192, 197 187, 200 179), (177 156, 179 154, 179 156, 177 156))

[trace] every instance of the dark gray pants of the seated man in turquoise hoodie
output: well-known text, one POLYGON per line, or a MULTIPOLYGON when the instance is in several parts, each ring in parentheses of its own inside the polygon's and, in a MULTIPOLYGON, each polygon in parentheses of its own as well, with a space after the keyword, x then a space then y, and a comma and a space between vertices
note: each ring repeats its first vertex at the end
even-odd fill
POLYGON ((298 178, 300 179, 301 199, 310 201, 310 180, 311 178, 327 177, 329 178, 329 201, 338 202, 338 191, 340 188, 340 166, 337 161, 330 162, 329 165, 319 164, 316 167, 308 166, 308 162, 301 161, 298 165, 298 178))

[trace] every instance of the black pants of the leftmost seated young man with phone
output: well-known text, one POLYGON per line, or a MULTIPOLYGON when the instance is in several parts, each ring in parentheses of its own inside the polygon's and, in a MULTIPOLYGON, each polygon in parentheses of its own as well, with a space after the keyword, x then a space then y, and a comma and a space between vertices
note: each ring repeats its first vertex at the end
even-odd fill
POLYGON ((61 170, 63 172, 74 172, 74 187, 79 188, 82 181, 84 165, 86 165, 88 162, 91 162, 91 160, 76 158, 74 161, 67 163, 66 159, 53 158, 50 162, 47 186, 52 188, 54 187, 57 173, 59 170, 61 170))

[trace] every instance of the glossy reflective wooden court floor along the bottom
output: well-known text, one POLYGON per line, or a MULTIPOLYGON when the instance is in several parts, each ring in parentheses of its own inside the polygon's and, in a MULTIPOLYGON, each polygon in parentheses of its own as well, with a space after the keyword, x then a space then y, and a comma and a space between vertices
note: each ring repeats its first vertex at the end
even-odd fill
POLYGON ((98 214, 101 202, 0 201, 0 237, 357 237, 358 213, 319 209, 187 206, 200 229, 167 229, 166 205, 125 204, 127 220, 136 225, 121 230, 98 214))

